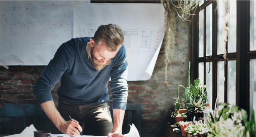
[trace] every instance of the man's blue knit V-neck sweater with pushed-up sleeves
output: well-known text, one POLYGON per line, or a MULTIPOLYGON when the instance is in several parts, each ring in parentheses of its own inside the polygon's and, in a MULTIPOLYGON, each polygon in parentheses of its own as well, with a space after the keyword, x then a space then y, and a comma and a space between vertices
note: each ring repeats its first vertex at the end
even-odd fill
POLYGON ((102 103, 109 100, 107 83, 111 78, 113 109, 126 108, 128 87, 125 46, 111 63, 97 71, 90 63, 86 44, 92 37, 71 39, 62 44, 34 86, 38 102, 53 100, 51 90, 61 78, 57 94, 61 100, 77 105, 102 103))

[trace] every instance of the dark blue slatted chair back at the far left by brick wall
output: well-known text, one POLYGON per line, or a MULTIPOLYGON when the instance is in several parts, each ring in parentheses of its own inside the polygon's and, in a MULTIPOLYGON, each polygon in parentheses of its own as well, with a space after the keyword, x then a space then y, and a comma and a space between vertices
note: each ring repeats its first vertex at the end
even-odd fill
POLYGON ((6 134, 5 118, 12 118, 13 134, 16 134, 15 117, 23 117, 23 130, 26 128, 25 117, 33 117, 35 125, 35 117, 42 116, 42 130, 46 130, 46 114, 41 107, 31 104, 21 105, 4 105, 0 107, 0 118, 3 118, 3 134, 6 134))

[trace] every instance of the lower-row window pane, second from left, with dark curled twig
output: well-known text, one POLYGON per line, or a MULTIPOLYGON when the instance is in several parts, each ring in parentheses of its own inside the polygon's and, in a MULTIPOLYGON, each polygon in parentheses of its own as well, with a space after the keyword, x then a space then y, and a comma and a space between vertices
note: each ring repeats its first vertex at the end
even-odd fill
POLYGON ((213 105, 213 63, 206 63, 206 91, 208 91, 208 101, 207 103, 211 103, 213 105))

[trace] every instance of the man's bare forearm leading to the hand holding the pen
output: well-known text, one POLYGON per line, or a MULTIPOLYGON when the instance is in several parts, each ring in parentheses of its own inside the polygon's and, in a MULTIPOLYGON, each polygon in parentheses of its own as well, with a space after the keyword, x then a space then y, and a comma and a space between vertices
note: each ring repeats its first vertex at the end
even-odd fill
POLYGON ((41 104, 43 111, 46 113, 48 118, 55 124, 59 129, 62 122, 65 122, 64 118, 61 117, 61 114, 58 112, 54 105, 54 101, 47 101, 41 104))

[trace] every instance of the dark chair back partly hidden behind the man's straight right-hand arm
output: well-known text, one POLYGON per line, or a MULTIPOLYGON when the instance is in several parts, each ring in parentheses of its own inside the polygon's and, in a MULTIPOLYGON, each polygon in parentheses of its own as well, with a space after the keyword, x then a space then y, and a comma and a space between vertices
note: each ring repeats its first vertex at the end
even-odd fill
MULTIPOLYGON (((111 113, 112 121, 113 121, 113 109, 112 104, 109 105, 109 110, 111 113)), ((126 104, 126 110, 127 111, 127 123, 132 125, 132 110, 136 110, 136 128, 141 135, 141 104, 126 104)), ((130 131, 130 126, 127 126, 127 132, 130 131)))

